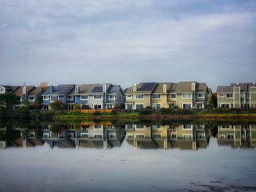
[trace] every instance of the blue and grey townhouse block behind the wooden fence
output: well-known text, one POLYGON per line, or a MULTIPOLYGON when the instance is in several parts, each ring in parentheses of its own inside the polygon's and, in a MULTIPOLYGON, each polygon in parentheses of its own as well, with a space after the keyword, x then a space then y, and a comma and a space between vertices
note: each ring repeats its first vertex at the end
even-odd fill
POLYGON ((124 104, 124 91, 120 85, 83 84, 51 85, 43 96, 43 109, 49 109, 50 103, 61 101, 68 109, 80 104, 85 109, 113 109, 124 104))

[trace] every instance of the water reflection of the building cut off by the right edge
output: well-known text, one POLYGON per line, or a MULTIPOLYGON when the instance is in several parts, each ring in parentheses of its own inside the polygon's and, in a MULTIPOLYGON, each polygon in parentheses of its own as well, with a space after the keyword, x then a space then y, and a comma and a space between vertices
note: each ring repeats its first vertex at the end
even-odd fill
POLYGON ((228 145, 234 148, 256 146, 256 125, 230 125, 218 126, 219 146, 228 145))

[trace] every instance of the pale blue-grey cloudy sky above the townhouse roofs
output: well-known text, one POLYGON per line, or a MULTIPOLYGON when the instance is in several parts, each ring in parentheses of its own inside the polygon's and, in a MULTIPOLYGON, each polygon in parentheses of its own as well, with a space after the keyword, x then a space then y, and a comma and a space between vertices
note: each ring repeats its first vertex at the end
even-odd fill
POLYGON ((0 84, 256 82, 256 1, 0 0, 0 84))

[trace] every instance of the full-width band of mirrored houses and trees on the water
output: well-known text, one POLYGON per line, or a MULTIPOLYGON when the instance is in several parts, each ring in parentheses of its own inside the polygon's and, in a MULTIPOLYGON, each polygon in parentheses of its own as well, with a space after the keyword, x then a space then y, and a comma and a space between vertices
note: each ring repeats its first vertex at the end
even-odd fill
POLYGON ((215 137, 218 145, 249 148, 256 145, 256 124, 231 123, 44 123, 39 126, 0 128, 0 146, 51 148, 121 147, 124 140, 135 149, 198 150, 215 137))

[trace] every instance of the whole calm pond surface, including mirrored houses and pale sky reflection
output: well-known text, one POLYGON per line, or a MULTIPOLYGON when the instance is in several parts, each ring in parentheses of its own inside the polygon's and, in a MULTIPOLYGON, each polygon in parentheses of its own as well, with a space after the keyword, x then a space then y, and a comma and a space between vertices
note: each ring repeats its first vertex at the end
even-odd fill
POLYGON ((256 191, 256 123, 0 123, 0 191, 256 191))

